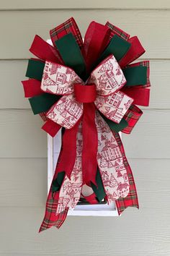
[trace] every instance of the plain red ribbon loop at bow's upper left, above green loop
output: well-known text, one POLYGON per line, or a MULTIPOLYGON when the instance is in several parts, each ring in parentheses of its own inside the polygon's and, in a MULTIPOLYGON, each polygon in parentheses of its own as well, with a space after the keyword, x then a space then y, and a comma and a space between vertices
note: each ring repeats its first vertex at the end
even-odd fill
POLYGON ((63 64, 63 60, 61 59, 57 49, 50 46, 50 44, 40 38, 39 35, 35 35, 32 46, 30 47, 30 52, 40 59, 55 61, 63 64))

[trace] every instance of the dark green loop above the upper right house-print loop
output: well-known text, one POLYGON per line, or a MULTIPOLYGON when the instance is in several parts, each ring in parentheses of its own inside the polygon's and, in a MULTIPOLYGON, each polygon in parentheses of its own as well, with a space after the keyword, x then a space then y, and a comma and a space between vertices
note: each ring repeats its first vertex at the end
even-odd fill
POLYGON ((115 56, 117 61, 120 61, 123 56, 127 53, 131 46, 127 40, 120 38, 118 35, 114 35, 112 40, 109 42, 109 46, 104 50, 102 55, 100 56, 98 63, 101 62, 103 59, 107 58, 110 54, 115 56))

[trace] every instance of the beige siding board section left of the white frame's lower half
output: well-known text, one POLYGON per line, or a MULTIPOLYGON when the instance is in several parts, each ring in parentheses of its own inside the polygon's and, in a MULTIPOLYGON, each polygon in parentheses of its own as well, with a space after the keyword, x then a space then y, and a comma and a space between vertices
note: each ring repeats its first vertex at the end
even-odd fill
POLYGON ((0 158, 1 207, 45 207, 46 158, 0 158))

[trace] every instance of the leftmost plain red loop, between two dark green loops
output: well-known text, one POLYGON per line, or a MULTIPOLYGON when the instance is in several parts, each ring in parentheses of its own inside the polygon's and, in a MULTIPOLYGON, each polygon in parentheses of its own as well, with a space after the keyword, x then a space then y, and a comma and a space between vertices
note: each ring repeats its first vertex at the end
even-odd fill
POLYGON ((36 95, 40 95, 42 92, 40 85, 41 82, 35 79, 29 79, 22 81, 22 85, 24 88, 24 97, 30 98, 36 95))

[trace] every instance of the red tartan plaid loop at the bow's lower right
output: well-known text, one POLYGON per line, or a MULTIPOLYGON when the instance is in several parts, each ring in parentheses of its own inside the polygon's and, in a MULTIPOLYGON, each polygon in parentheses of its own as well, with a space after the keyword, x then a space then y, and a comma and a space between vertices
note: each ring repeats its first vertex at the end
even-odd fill
POLYGON ((128 111, 126 112, 125 116, 123 118, 128 121, 128 127, 125 127, 125 129, 122 129, 121 132, 130 133, 132 132, 133 128, 135 127, 135 124, 140 119, 140 116, 142 116, 143 111, 138 108, 138 106, 131 105, 128 111))

